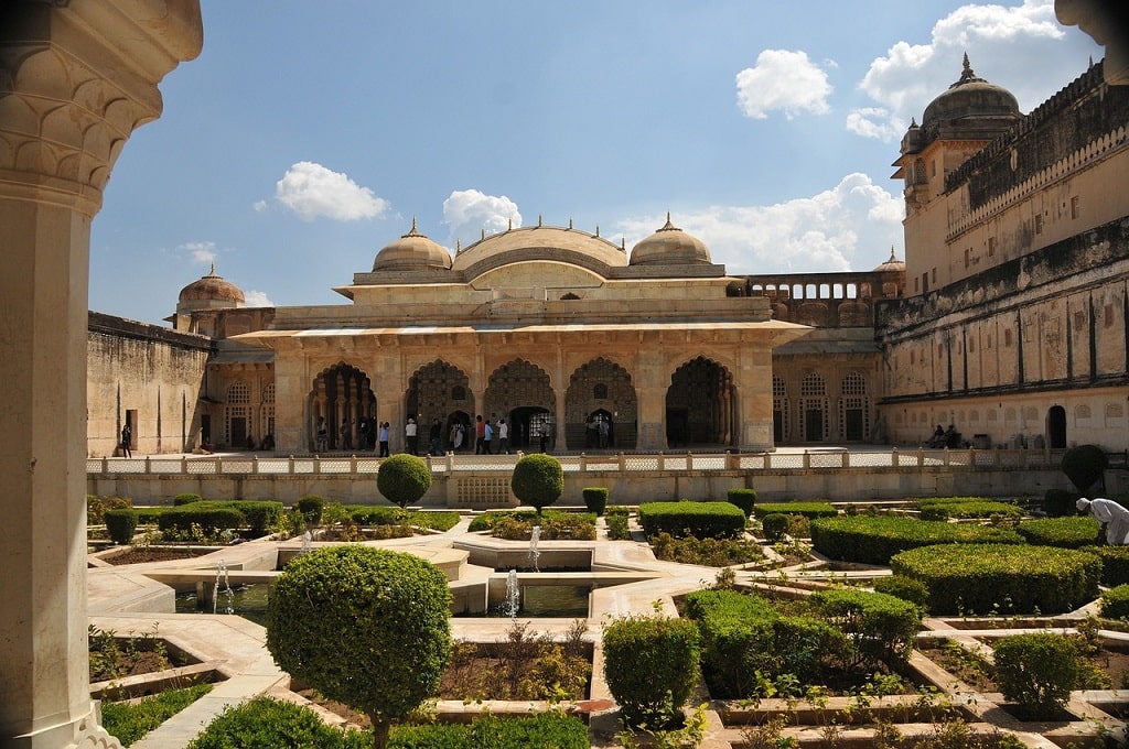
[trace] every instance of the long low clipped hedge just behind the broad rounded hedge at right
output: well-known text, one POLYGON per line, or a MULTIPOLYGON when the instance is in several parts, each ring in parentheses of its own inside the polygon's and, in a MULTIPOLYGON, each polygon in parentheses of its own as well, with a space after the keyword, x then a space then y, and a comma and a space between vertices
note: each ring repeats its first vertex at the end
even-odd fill
POLYGON ((839 517, 812 521, 812 548, 842 562, 890 564, 900 552, 935 544, 1022 544, 1014 530, 898 517, 839 517))

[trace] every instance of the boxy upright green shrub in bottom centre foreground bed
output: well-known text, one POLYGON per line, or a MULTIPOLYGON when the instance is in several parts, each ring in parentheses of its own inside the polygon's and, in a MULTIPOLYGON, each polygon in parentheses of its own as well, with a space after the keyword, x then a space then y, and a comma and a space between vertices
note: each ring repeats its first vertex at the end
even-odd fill
POLYGON ((604 625, 604 678, 629 726, 665 729, 698 682, 698 626, 628 616, 604 625))

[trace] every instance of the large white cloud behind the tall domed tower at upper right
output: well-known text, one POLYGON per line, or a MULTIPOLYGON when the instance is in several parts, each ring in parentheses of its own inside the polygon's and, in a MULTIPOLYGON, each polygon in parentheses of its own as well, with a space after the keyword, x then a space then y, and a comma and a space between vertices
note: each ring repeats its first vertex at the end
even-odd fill
POLYGON ((1080 74, 1095 49, 1084 34, 1068 35, 1059 26, 1053 0, 961 6, 934 24, 927 44, 896 42, 870 63, 859 88, 889 117, 882 123, 877 112, 859 115, 848 129, 884 139, 890 130, 904 132, 910 118, 920 122, 926 105, 960 78, 965 53, 978 76, 1007 88, 1030 112, 1065 85, 1064 65, 1080 74))

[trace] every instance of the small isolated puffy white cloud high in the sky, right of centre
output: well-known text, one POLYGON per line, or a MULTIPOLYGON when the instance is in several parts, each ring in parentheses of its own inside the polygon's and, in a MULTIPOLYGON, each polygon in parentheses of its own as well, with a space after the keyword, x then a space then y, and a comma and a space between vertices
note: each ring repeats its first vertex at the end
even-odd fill
POLYGON ((764 50, 755 67, 737 73, 737 106, 753 120, 778 109, 789 120, 802 112, 824 114, 831 90, 828 74, 804 52, 764 50))

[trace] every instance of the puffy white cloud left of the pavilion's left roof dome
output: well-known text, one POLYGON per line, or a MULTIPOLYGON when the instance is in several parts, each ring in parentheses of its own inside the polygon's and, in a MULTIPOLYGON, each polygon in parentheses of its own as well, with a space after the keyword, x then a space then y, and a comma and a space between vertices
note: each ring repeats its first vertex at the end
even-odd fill
MULTIPOLYGON (((287 169, 274 187, 274 197, 303 221, 375 219, 388 208, 387 201, 348 175, 312 161, 298 161, 287 169)), ((255 209, 261 210, 260 203, 255 209)))

